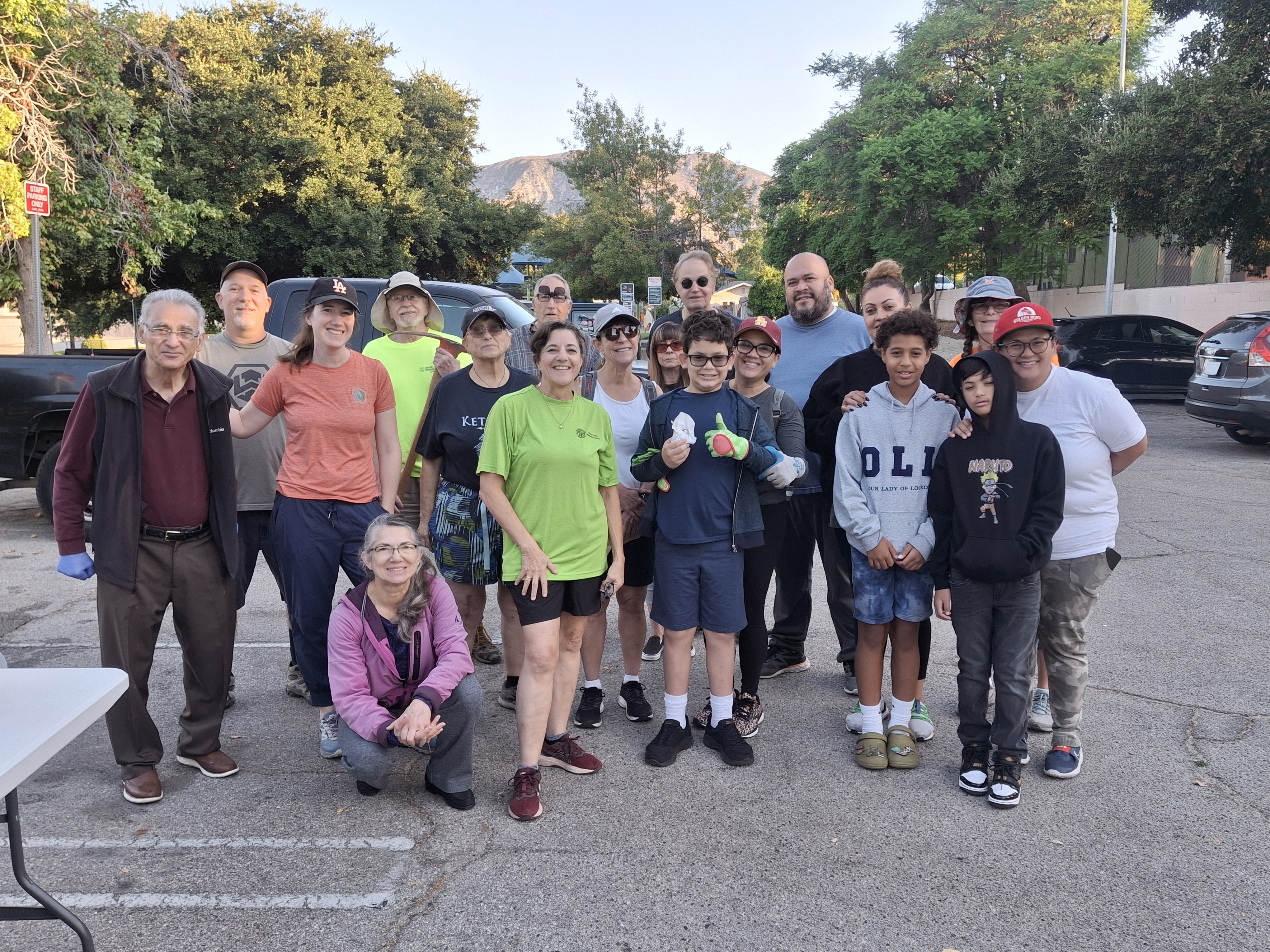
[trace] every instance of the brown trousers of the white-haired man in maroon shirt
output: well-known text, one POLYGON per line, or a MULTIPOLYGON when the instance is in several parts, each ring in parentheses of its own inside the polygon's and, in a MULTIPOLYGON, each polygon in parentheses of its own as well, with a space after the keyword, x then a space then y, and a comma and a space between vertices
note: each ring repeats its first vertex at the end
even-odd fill
POLYGON ((98 579, 102 666, 128 673, 128 689, 105 712, 110 746, 123 779, 140 777, 163 759, 163 739, 146 702, 159 626, 169 604, 185 683, 177 751, 201 757, 220 750, 234 661, 235 599, 234 576, 221 569, 211 533, 184 542, 142 536, 135 593, 98 579))

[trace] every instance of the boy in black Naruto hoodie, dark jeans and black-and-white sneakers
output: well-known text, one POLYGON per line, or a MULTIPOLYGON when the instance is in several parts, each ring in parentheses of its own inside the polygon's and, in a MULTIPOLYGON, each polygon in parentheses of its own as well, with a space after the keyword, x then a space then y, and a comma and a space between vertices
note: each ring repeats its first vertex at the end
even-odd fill
POLYGON ((986 350, 952 371, 975 416, 969 439, 940 446, 927 509, 935 613, 956 632, 961 773, 958 786, 988 802, 1019 802, 1027 759, 1029 668, 1036 652, 1040 569, 1063 522, 1063 452, 1049 428, 1019 419, 1010 362, 986 350), (988 724, 988 677, 997 713, 988 724), (988 755, 992 745, 992 776, 988 755))

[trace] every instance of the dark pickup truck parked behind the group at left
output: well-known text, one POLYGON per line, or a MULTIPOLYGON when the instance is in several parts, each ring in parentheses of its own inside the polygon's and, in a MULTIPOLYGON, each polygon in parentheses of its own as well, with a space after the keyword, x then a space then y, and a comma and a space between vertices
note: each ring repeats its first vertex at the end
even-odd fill
MULTIPOLYGON (((348 278, 357 292, 362 317, 349 345, 361 350, 380 336, 371 326, 371 305, 387 284, 384 278, 348 278)), ((312 278, 282 278, 269 284, 273 303, 264 327, 291 340, 300 330, 300 312, 312 278)), ((423 286, 436 300, 446 319, 444 331, 460 336, 464 312, 488 301, 518 327, 533 321, 533 315, 516 298, 497 288, 425 281, 423 286)), ((41 510, 50 515, 53 501, 53 468, 61 449, 62 430, 71 406, 88 374, 127 360, 137 352, 72 350, 70 354, 0 354, 0 484, 4 489, 34 486, 41 510)))

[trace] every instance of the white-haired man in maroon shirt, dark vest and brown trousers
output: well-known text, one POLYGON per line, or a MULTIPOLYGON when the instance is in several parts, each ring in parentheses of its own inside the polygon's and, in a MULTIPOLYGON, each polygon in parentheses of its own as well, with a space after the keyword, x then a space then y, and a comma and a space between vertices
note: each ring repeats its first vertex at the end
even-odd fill
POLYGON ((133 803, 163 798, 163 740, 146 701, 169 604, 184 656, 177 759, 207 777, 239 769, 220 739, 236 614, 231 381, 192 363, 204 317, 184 291, 146 296, 138 322, 145 352, 89 374, 53 479, 57 571, 98 576, 102 665, 128 673, 128 691, 105 726, 123 797, 133 803), (95 559, 84 539, 89 500, 95 559))

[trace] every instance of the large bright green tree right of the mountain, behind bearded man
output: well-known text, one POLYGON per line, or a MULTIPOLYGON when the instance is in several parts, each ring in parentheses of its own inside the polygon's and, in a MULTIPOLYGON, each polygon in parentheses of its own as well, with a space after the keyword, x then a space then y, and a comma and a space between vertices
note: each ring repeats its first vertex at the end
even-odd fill
MULTIPOLYGON (((1031 277, 1048 232, 1019 221, 994 187, 1030 124, 1109 89, 1118 71, 1116 0, 930 0, 874 58, 822 56, 852 102, 777 160, 761 195, 765 256, 823 254, 857 291, 878 258, 933 288, 941 272, 1031 277)), ((1154 34, 1130 3, 1130 63, 1154 34)), ((927 292, 927 301, 930 292, 927 292)))

